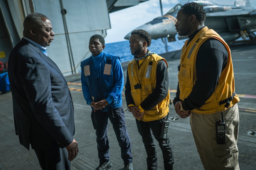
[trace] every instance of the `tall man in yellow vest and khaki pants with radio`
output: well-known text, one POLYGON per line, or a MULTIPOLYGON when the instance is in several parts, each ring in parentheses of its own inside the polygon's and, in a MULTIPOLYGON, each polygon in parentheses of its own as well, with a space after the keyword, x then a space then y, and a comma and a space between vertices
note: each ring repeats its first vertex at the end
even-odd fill
POLYGON ((214 30, 204 26, 205 17, 203 7, 195 2, 177 13, 178 35, 189 40, 182 48, 173 104, 181 118, 190 116, 204 169, 238 170, 239 98, 231 52, 214 30))

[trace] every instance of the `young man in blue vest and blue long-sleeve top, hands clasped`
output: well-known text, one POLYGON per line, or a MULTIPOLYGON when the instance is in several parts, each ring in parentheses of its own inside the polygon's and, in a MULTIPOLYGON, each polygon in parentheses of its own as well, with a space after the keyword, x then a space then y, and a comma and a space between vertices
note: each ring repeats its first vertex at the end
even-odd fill
POLYGON ((107 137, 108 119, 110 119, 124 160, 124 169, 132 169, 131 143, 124 120, 122 90, 124 73, 120 58, 104 53, 105 40, 100 35, 90 38, 89 50, 92 56, 81 62, 81 83, 83 96, 92 107, 92 124, 96 130, 98 157, 100 165, 96 170, 112 167, 107 137))

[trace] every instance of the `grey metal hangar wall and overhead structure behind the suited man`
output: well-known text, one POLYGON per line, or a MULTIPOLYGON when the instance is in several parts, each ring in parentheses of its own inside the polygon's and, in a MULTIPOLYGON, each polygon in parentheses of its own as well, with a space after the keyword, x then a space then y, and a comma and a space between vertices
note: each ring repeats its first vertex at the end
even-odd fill
POLYGON ((80 70, 88 58, 92 35, 106 37, 111 28, 109 13, 147 0, 0 0, 0 61, 8 62, 11 49, 23 37, 23 21, 31 12, 46 15, 52 23, 54 40, 48 56, 64 75, 80 70))

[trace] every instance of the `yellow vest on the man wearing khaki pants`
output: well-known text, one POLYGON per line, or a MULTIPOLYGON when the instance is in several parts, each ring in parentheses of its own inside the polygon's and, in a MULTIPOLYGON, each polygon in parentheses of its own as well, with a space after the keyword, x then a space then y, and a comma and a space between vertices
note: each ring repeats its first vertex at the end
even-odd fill
MULTIPOLYGON (((234 96, 234 99, 230 101, 230 105, 228 108, 224 107, 225 104, 219 105, 219 102, 225 100, 232 96, 235 92, 235 82, 234 82, 234 72, 233 65, 231 59, 230 48, 227 43, 212 29, 208 29, 207 27, 202 28, 195 37, 191 40, 191 42, 187 45, 188 40, 185 42, 185 45, 182 48, 181 60, 180 60, 180 71, 178 73, 179 80, 179 89, 180 96, 179 98, 183 101, 190 94, 192 87, 195 85, 196 81, 196 70, 195 70, 195 59, 197 52, 200 46, 204 43, 208 38, 215 38, 221 41, 227 51, 228 51, 228 60, 227 66, 222 70, 220 74, 220 78, 218 80, 217 86, 210 96, 210 98, 204 103, 200 108, 195 108, 191 110, 194 113, 200 114, 211 114, 220 111, 227 110, 232 107, 234 104, 239 102, 239 98, 237 95, 234 96)), ((207 56, 205 56, 207 57, 207 56)))

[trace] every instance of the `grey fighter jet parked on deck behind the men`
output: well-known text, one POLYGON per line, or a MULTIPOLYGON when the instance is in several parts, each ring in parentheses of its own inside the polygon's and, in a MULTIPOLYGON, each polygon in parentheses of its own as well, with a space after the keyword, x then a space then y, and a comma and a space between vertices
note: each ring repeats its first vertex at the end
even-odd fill
MULTIPOLYGON (((206 19, 204 25, 218 32, 226 41, 234 41, 240 37, 244 40, 256 40, 254 32, 256 31, 256 8, 250 5, 249 0, 236 0, 234 6, 217 5, 213 2, 204 0, 183 0, 174 6, 167 14, 153 19, 152 21, 141 25, 136 29, 146 30, 152 39, 168 37, 168 41, 175 41, 177 32, 175 23, 177 22, 177 12, 187 2, 197 2, 204 6, 206 19)), ((131 32, 124 38, 129 40, 131 32)), ((178 39, 185 37, 178 36, 178 39)), ((164 41, 163 41, 164 42, 164 41)))

